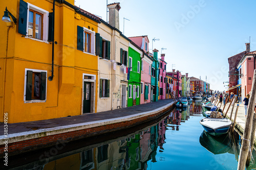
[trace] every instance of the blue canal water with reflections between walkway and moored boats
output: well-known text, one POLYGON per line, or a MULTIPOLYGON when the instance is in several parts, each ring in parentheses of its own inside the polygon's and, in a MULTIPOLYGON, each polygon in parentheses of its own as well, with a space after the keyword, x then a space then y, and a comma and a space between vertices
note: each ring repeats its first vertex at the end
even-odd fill
MULTIPOLYGON (((61 152, 61 149, 71 146, 59 143, 47 155, 45 152, 20 156, 27 163, 17 163, 14 168, 237 169, 241 136, 236 132, 220 137, 211 136, 200 125, 202 118, 201 101, 193 101, 187 108, 177 108, 166 113, 159 122, 139 127, 135 133, 124 133, 124 136, 118 135, 105 141, 102 139, 104 137, 98 137, 90 145, 68 152, 61 152), (30 162, 29 157, 35 158, 34 161, 30 162)), ((247 169, 256 169, 255 151, 253 159, 247 169)))

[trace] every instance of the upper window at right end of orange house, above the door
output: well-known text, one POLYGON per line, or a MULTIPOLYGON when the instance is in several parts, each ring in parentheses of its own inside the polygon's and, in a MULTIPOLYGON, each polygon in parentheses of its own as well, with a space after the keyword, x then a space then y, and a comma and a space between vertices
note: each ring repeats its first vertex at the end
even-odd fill
POLYGON ((95 32, 77 26, 77 50, 84 53, 95 54, 95 32))

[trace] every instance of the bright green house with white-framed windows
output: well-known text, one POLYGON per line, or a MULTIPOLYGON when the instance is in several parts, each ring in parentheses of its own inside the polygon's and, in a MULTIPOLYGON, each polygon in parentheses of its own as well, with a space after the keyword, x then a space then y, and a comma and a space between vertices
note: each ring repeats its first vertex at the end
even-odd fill
POLYGON ((130 75, 128 80, 128 99, 127 107, 140 104, 140 72, 141 72, 141 58, 142 52, 133 42, 129 46, 128 67, 130 68, 130 75))

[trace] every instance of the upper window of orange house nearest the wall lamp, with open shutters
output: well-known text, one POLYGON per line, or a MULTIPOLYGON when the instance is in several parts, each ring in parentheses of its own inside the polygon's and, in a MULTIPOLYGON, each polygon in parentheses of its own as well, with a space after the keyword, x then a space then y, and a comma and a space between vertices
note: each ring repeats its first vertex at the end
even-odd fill
POLYGON ((23 0, 19 1, 18 33, 26 38, 51 41, 52 13, 23 0), (49 33, 49 35, 48 35, 49 33))

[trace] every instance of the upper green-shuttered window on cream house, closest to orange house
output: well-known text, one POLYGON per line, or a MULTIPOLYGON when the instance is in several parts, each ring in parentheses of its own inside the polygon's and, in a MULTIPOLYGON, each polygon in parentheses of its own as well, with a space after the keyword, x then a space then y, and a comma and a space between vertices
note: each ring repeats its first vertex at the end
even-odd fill
POLYGON ((97 56, 110 60, 110 41, 103 39, 99 33, 95 33, 95 48, 97 56))

